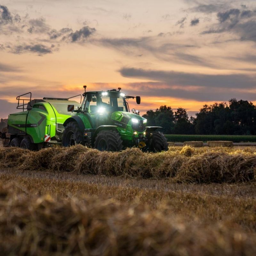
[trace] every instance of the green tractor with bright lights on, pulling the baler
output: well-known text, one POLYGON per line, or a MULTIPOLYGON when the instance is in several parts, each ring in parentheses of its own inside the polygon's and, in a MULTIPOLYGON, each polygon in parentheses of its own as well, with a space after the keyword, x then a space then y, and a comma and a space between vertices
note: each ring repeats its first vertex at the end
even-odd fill
POLYGON ((156 131, 159 126, 146 126, 147 119, 132 109, 128 100, 140 96, 128 96, 113 89, 83 93, 82 105, 75 109, 75 115, 63 123, 62 135, 64 147, 82 144, 100 151, 120 151, 124 148, 138 147, 142 151, 160 152, 168 150, 168 143, 163 133, 156 131))

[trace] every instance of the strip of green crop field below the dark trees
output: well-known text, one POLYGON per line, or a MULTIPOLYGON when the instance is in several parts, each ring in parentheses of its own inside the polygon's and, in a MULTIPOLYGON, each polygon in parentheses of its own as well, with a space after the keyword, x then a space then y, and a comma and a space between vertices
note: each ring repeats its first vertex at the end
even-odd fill
POLYGON ((256 142, 256 135, 183 135, 183 134, 166 134, 167 141, 184 142, 184 141, 210 141, 226 140, 233 142, 256 142))

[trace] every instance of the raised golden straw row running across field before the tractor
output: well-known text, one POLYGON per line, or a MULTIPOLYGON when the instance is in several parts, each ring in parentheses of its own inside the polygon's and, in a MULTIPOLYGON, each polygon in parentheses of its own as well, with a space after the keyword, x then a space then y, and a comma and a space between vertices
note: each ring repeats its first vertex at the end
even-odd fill
POLYGON ((143 153, 138 148, 100 152, 82 145, 40 151, 0 148, 0 167, 144 179, 169 178, 176 182, 191 183, 256 180, 254 152, 224 152, 220 148, 194 154, 193 150, 189 146, 161 153, 143 153))

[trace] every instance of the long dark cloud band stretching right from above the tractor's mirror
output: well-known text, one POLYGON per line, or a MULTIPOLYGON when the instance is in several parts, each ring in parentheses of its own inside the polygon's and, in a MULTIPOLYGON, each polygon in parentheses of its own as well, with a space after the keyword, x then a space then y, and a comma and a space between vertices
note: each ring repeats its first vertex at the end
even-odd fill
POLYGON ((124 77, 150 79, 175 86, 202 86, 205 88, 254 88, 256 77, 244 74, 204 75, 175 71, 144 70, 122 68, 119 70, 124 77))

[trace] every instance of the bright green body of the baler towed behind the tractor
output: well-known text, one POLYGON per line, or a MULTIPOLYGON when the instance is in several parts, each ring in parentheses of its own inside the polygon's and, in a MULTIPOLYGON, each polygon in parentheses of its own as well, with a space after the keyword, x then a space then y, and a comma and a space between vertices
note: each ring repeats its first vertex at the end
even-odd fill
MULTIPOLYGON (((27 134, 34 143, 44 142, 44 135, 61 139, 61 132, 57 131, 57 124, 63 123, 73 113, 68 112, 68 105, 79 104, 76 101, 67 100, 44 100, 37 102, 33 108, 27 111, 10 114, 8 117, 8 129, 10 134, 27 134)), ((60 125, 60 127, 61 127, 60 125)))

